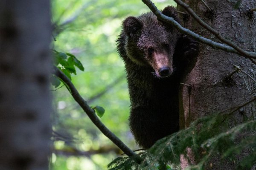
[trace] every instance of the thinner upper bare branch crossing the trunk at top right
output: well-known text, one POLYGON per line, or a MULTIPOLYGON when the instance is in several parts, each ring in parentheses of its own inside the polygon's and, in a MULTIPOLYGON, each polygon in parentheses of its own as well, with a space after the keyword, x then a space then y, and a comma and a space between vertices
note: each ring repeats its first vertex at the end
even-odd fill
POLYGON ((254 52, 248 52, 245 51, 243 49, 241 49, 238 45, 236 45, 235 43, 225 39, 224 37, 221 36, 221 34, 216 31, 215 29, 213 29, 211 26, 209 26, 207 23, 205 23, 203 20, 201 20, 200 17, 198 17, 197 14, 195 14, 195 12, 186 4, 183 3, 181 0, 174 0, 178 5, 182 6, 189 14, 191 14, 191 16, 205 29, 207 29, 209 32, 211 32, 213 35, 215 35, 219 40, 221 40, 221 42, 224 42, 225 44, 233 47, 236 51, 239 52, 239 54, 241 54, 242 56, 246 57, 246 58, 254 58, 256 59, 256 53, 254 52))

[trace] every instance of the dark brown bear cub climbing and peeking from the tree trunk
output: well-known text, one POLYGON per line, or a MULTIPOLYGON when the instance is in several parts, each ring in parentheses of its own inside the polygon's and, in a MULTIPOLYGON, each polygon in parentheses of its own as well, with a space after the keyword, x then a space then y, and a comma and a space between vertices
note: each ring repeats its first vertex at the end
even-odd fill
MULTIPOLYGON (((162 13, 180 22, 174 7, 162 13)), ((140 147, 149 148, 179 130, 179 83, 197 57, 198 42, 152 12, 127 17, 116 41, 127 73, 131 132, 140 147)))

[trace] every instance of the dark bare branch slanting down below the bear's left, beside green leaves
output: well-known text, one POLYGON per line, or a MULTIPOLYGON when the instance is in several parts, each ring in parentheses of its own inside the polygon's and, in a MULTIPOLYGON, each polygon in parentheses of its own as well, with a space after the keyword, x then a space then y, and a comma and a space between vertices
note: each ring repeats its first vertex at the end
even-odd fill
POLYGON ((88 115, 90 120, 93 122, 96 127, 99 128, 99 130, 108 137, 116 146, 118 146, 126 155, 129 157, 136 156, 137 154, 134 153, 129 147, 127 147, 116 135, 114 135, 96 116, 94 110, 90 108, 89 105, 87 105, 87 102, 80 96, 79 92, 76 90, 73 83, 70 81, 67 76, 62 73, 57 67, 54 66, 54 73, 55 76, 59 77, 69 90, 70 94, 73 96, 73 98, 76 100, 76 102, 81 106, 81 108, 85 111, 85 113, 88 115))

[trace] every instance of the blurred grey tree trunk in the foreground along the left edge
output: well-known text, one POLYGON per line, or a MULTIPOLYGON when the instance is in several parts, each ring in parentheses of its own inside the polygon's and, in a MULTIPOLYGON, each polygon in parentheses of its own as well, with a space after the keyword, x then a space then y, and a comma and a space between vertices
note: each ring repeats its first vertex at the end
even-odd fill
POLYGON ((49 0, 0 0, 0 170, 47 170, 49 0))

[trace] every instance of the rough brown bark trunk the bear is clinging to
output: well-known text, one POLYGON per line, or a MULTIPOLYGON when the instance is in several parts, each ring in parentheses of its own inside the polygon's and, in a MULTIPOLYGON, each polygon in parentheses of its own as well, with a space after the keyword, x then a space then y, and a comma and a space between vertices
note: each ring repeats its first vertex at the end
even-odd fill
MULTIPOLYGON (((212 28, 221 33, 223 37, 236 43, 247 51, 256 51, 256 14, 251 17, 247 15, 250 8, 256 7, 255 0, 204 0, 212 13, 207 9, 201 0, 184 0, 202 20, 208 23, 212 28), (235 6, 238 8, 235 9, 235 6)), ((179 11, 185 11, 178 6, 179 11)), ((199 26, 195 20, 190 20, 184 25, 197 34, 219 42, 212 34, 199 26)), ((225 76, 233 70, 233 65, 238 65, 244 69, 250 76, 256 77, 256 67, 249 59, 240 57, 237 54, 231 54, 218 49, 213 49, 207 45, 200 45, 200 53, 195 68, 187 75, 184 83, 192 85, 189 92, 188 87, 183 86, 182 101, 184 112, 180 114, 180 127, 188 127, 191 122, 199 117, 206 116, 216 111, 222 111, 227 108, 247 102, 252 99, 252 95, 246 88, 241 74, 233 75, 233 81, 228 84, 222 83, 225 76)), ((250 89, 253 89, 253 82, 246 75, 245 79, 250 89)), ((247 117, 256 112, 256 104, 253 103, 234 114, 236 122, 243 122, 243 114, 247 117)), ((196 163, 193 154, 189 153, 192 163, 196 163)), ((220 165, 219 158, 215 158, 212 163, 214 170, 234 170, 233 162, 225 162, 220 165)), ((183 168, 187 162, 183 160, 183 168)))

